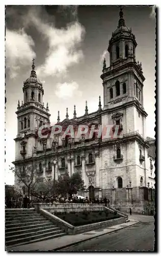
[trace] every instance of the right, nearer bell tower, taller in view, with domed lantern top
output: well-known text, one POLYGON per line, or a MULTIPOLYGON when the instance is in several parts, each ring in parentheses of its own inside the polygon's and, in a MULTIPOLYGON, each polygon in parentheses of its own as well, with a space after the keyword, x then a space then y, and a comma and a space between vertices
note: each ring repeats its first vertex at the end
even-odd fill
POLYGON ((143 107, 143 82, 145 77, 142 64, 136 61, 137 41, 131 28, 129 29, 125 25, 123 8, 120 8, 119 16, 117 29, 112 33, 109 40, 110 66, 106 67, 106 60, 103 61, 101 74, 103 80, 103 110, 113 112, 118 108, 119 113, 122 110, 124 119, 126 115, 124 132, 139 130, 144 137, 145 118, 147 116, 143 107), (132 125, 129 125, 129 121, 132 122, 132 125))

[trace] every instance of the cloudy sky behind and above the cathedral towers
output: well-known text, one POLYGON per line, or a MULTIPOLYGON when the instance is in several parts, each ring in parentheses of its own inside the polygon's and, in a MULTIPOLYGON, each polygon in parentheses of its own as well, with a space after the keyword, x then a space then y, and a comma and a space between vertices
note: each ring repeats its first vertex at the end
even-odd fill
MULTIPOLYGON (((148 6, 124 7, 127 27, 138 43, 137 60, 142 62, 144 107, 148 113, 147 136, 155 127, 155 15, 148 6)), ((15 158, 18 99, 23 100, 23 81, 30 76, 32 58, 38 78, 43 82, 43 100, 49 103, 51 124, 58 110, 63 120, 68 107, 73 117, 98 109, 103 88, 102 60, 112 32, 117 28, 118 6, 8 6, 6 9, 6 183, 13 184, 8 164, 15 158)))

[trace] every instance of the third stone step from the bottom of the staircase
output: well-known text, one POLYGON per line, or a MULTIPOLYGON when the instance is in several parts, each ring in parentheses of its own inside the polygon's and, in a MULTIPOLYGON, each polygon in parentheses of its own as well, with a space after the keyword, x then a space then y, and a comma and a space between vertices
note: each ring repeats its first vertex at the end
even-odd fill
MULTIPOLYGON (((45 234, 45 233, 52 233, 54 232, 55 234, 59 234, 62 232, 62 230, 59 227, 52 227, 48 229, 43 229, 41 228, 40 230, 34 230, 31 231, 30 229, 27 229, 25 232, 12 234, 11 236, 8 234, 6 235, 6 242, 12 240, 12 239, 25 239, 25 238, 30 238, 32 236, 37 236, 38 234, 45 234)), ((13 232, 12 232, 13 233, 13 232)))

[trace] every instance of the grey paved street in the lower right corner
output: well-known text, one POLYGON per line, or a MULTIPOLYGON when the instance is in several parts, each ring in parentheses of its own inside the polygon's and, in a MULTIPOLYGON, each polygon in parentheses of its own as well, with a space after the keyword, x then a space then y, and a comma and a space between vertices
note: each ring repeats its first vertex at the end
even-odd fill
MULTIPOLYGON (((129 216, 130 218, 130 216, 129 216)), ((151 250, 154 248, 154 218, 152 216, 132 215, 132 219, 140 223, 116 231, 104 234, 59 251, 105 251, 105 250, 151 250)))

